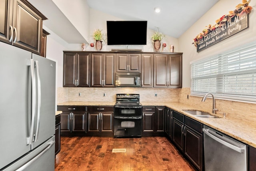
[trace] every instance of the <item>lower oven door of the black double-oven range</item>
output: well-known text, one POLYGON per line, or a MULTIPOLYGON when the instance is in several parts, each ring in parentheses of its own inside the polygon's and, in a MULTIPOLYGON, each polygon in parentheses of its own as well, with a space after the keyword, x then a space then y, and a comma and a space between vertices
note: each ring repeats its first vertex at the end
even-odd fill
POLYGON ((114 117, 114 137, 141 137, 142 116, 114 117))

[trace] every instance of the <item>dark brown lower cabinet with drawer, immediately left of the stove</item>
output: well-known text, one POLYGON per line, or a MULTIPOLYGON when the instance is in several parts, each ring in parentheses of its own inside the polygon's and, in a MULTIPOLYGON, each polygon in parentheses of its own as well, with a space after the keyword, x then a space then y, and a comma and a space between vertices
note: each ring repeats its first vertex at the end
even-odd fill
POLYGON ((87 135, 114 136, 114 107, 88 107, 87 135))

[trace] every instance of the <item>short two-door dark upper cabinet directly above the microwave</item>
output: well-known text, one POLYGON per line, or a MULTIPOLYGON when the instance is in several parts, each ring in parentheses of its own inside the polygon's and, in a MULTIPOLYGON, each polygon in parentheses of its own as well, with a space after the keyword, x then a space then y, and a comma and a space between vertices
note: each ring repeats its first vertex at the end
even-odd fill
POLYGON ((141 54, 116 54, 116 72, 140 72, 141 54))

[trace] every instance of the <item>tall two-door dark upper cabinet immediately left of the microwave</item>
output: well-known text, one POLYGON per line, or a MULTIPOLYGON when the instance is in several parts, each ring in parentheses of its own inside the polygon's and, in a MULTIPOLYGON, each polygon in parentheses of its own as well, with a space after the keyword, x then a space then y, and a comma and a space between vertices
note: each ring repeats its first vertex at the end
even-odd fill
POLYGON ((115 54, 92 54, 91 87, 115 86, 115 54))

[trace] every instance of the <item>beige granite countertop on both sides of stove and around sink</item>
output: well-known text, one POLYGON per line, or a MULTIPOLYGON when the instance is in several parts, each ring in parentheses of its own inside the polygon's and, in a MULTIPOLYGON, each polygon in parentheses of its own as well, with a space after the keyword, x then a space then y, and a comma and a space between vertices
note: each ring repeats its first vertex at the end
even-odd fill
MULTIPOLYGON (((242 141, 248 145, 251 145, 252 147, 256 148, 256 124, 253 122, 246 122, 241 121, 240 119, 230 119, 228 117, 224 118, 221 114, 216 114, 217 117, 220 118, 202 118, 202 117, 196 117, 195 115, 192 115, 190 113, 187 113, 186 111, 183 111, 182 109, 198 109, 195 106, 192 105, 186 105, 183 103, 169 103, 169 102, 141 102, 143 106, 166 106, 170 109, 174 109, 175 111, 178 111, 182 113, 183 115, 186 115, 196 121, 199 121, 200 123, 203 123, 204 125, 207 125, 209 127, 212 127, 222 133, 225 133, 226 135, 229 135, 235 139, 238 139, 239 141, 242 141)), ((85 106, 93 106, 93 105, 100 105, 100 106, 114 106, 115 102, 86 102, 86 101, 67 101, 64 103, 58 103, 58 105, 85 105, 85 106)), ((212 114, 214 115, 214 114, 212 114)))

